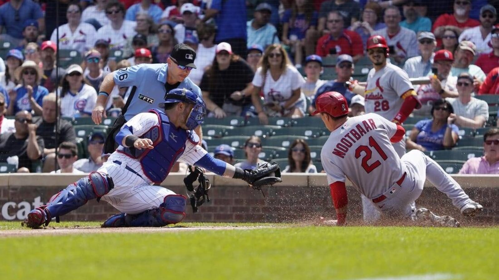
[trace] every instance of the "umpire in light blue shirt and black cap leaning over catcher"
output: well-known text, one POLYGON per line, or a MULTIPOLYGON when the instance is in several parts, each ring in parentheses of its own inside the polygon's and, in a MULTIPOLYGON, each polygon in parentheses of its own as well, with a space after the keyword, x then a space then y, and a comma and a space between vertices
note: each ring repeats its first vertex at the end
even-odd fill
MULTIPOLYGON (((97 125, 102 122, 102 117, 106 117, 104 108, 113 87, 132 87, 121 115, 109 132, 104 152, 111 153, 116 149, 114 137, 126 121, 149 109, 158 109, 158 105, 165 100, 165 95, 170 90, 186 88, 202 97, 201 89, 187 77, 191 70, 196 68, 195 59, 194 49, 185 44, 177 44, 166 64, 139 64, 116 70, 104 78, 92 111, 92 120, 97 125)), ((196 129, 196 133, 202 136, 201 127, 196 129)))

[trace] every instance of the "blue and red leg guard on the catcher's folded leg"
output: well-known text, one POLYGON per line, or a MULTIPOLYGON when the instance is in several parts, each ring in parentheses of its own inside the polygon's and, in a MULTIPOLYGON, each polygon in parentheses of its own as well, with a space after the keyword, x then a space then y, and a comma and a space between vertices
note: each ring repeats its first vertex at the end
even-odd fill
POLYGON ((187 198, 181 194, 170 194, 165 196, 164 202, 158 208, 135 215, 126 213, 113 215, 102 224, 102 227, 163 227, 176 224, 186 216, 186 200, 187 198))

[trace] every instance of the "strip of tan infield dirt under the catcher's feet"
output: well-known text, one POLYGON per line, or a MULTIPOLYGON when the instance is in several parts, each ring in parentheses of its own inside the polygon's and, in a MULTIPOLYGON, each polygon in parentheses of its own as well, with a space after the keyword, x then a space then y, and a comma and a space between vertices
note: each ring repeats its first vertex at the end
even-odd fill
POLYGON ((251 230, 260 228, 274 228, 275 226, 203 226, 203 227, 161 227, 161 228, 97 228, 97 227, 73 227, 73 228, 40 228, 25 230, 3 230, 2 237, 24 237, 38 235, 64 235, 64 234, 94 234, 94 233, 168 233, 201 230, 251 230))

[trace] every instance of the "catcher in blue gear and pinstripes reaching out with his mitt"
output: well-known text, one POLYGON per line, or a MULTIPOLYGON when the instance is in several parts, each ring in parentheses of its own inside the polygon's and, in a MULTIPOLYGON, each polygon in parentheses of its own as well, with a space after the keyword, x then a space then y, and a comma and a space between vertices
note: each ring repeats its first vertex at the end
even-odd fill
MULTIPOLYGON (((83 206, 90 199, 104 200, 120 214, 109 217, 102 227, 161 227, 185 217, 187 198, 158 185, 173 163, 184 161, 218 175, 243 179, 253 188, 281 181, 277 164, 243 170, 213 158, 199 143, 193 130, 202 122, 206 105, 187 89, 174 89, 160 104, 130 119, 116 135, 118 148, 101 168, 68 185, 48 204, 30 211, 25 225, 39 228, 52 218, 83 206)), ((208 200, 209 181, 195 168, 185 178, 193 210, 208 200), (195 189, 193 183, 200 181, 195 189)))

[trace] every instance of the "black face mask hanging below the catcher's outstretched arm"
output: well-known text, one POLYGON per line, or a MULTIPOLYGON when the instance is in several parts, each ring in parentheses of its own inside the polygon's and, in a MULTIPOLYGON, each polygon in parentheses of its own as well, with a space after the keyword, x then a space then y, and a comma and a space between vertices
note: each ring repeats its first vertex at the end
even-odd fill
POLYGON ((184 178, 184 184, 187 188, 187 196, 191 200, 192 211, 194 213, 198 212, 198 207, 203 205, 203 203, 210 202, 210 196, 208 195, 208 190, 211 187, 210 180, 206 174, 199 167, 194 167, 194 171, 189 166, 188 170, 190 174, 184 178), (194 188, 193 183, 195 181, 199 182, 199 186, 194 188))

